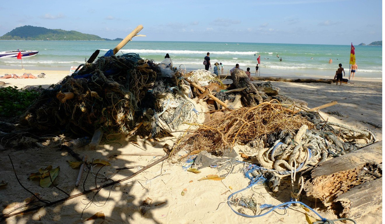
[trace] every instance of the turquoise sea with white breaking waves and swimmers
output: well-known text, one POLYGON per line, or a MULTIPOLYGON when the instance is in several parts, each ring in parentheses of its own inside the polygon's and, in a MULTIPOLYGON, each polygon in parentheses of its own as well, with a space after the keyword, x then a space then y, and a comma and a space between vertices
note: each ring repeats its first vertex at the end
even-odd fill
MULTIPOLYGON (((34 41, 1 40, 0 51, 38 50, 36 56, 23 58, 23 66, 30 70, 70 70, 70 66, 84 63, 100 50, 99 56, 114 48, 119 41, 34 41)), ((130 41, 117 55, 138 53, 160 63, 168 53, 173 65, 187 70, 204 68, 203 58, 210 52, 211 64, 224 64, 224 73, 238 63, 241 69, 255 73, 257 57, 261 55, 260 72, 263 76, 300 76, 333 78, 342 63, 348 77, 350 43, 347 45, 308 45, 279 43, 230 43, 183 41, 130 41), (256 53, 256 56, 254 56, 256 53), (276 57, 282 58, 282 61, 276 57), (266 59, 265 59, 266 58, 266 59), (313 59, 311 59, 313 58, 313 59), (329 59, 333 63, 328 63, 329 59)), ((355 77, 382 79, 382 47, 355 46, 358 72, 355 77)), ((16 58, 1 59, 0 68, 21 68, 16 58)), ((211 70, 213 71, 213 70, 211 70)))

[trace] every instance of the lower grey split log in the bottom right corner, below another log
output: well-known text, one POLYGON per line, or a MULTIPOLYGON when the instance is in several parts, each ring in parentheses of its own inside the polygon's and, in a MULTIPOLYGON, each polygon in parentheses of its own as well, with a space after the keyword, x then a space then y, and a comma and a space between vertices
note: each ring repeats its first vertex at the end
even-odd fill
POLYGON ((382 206, 382 178, 353 187, 337 196, 336 202, 343 207, 340 216, 358 219, 382 206))

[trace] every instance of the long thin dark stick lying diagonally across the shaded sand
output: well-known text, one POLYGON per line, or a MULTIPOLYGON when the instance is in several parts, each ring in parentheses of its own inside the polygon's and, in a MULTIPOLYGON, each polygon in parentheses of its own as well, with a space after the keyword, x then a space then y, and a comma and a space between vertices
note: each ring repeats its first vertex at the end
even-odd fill
POLYGON ((39 209, 42 208, 42 207, 52 206, 52 205, 58 204, 58 203, 60 203, 60 202, 65 202, 65 201, 68 201, 68 200, 70 200, 70 199, 72 199, 72 198, 79 197, 79 196, 82 196, 82 195, 84 195, 84 194, 88 194, 88 193, 90 193, 90 192, 92 192, 92 191, 97 191, 97 190, 102 189, 102 188, 104 188, 104 187, 109 187, 109 186, 112 186, 112 185, 114 185, 114 184, 120 183, 120 182, 122 182, 122 181, 126 181, 126 180, 128 180, 128 179, 133 178, 134 176, 137 176, 139 173, 142 173, 142 172, 145 171, 146 169, 151 168, 152 166, 154 166, 154 165, 156 165, 156 164, 158 164, 158 163, 160 163, 160 162, 166 160, 166 159, 168 158, 168 156, 169 156, 168 154, 167 154, 166 156, 163 156, 162 158, 158 159, 157 161, 155 161, 155 162, 153 162, 153 163, 151 163, 151 164, 148 164, 148 165, 145 166, 144 168, 140 169, 140 170, 137 171, 136 173, 133 173, 131 176, 128 176, 128 177, 126 177, 126 178, 124 178, 124 179, 120 179, 120 180, 111 182, 111 183, 109 183, 109 184, 104 184, 104 185, 102 185, 102 186, 100 186, 100 187, 95 187, 95 188, 89 189, 89 190, 87 190, 87 191, 80 192, 79 194, 74 194, 74 195, 71 195, 71 196, 69 196, 69 197, 64 197, 64 198, 62 198, 62 199, 59 199, 59 200, 54 201, 54 202, 47 203, 47 204, 42 205, 42 206, 32 207, 32 208, 27 209, 27 210, 25 210, 25 211, 15 212, 15 213, 12 213, 12 214, 3 214, 3 215, 0 216, 0 221, 2 221, 3 219, 6 219, 6 218, 12 217, 12 216, 16 216, 16 215, 18 215, 18 214, 36 211, 36 210, 39 210, 39 209))

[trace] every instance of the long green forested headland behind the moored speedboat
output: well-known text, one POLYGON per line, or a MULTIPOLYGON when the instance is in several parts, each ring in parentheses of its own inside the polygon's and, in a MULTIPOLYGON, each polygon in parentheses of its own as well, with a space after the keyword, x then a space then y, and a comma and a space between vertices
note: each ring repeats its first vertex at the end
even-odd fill
MULTIPOLYGON (((111 40, 97 35, 80 33, 74 30, 47 29, 44 27, 23 26, 13 29, 0 37, 0 40, 111 40)), ((116 38, 114 40, 123 40, 116 38)))

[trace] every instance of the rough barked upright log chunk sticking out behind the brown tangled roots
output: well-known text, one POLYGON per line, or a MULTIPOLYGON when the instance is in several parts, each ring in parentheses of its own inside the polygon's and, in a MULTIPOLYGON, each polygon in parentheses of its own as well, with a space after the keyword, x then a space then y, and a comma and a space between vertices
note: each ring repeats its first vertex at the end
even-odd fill
POLYGON ((241 91, 242 101, 246 106, 256 106, 262 103, 261 95, 259 95, 258 90, 243 70, 235 69, 231 73, 231 78, 236 88, 246 87, 246 89, 241 91))

